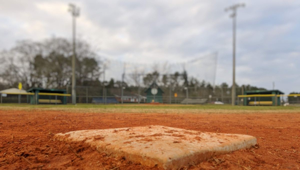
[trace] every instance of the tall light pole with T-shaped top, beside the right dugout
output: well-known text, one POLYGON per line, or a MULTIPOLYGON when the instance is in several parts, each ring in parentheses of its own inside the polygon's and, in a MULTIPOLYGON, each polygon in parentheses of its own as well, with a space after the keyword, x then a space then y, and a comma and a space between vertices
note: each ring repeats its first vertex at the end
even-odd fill
POLYGON ((231 105, 234 106, 235 105, 235 27, 236 27, 236 10, 238 9, 238 7, 244 7, 245 4, 234 4, 228 8, 225 9, 225 11, 229 11, 232 10, 232 14, 230 15, 230 17, 233 19, 233 25, 232 25, 232 30, 233 30, 233 34, 232 34, 232 45, 233 45, 233 49, 232 49, 232 56, 233 56, 233 63, 232 63, 232 67, 233 67, 233 75, 232 75, 232 87, 231 87, 231 105))

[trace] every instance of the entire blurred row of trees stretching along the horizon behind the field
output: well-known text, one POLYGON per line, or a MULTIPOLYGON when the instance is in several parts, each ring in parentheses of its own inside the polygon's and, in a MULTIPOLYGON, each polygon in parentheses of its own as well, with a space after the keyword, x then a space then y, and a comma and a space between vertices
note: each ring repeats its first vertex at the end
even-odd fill
MULTIPOLYGON (((71 85, 72 67, 71 56, 72 42, 65 38, 52 37, 43 41, 22 40, 8 50, 1 51, 0 55, 0 90, 17 87, 19 82, 23 84, 24 89, 31 87, 66 89, 71 85)), ((109 95, 119 93, 121 86, 126 88, 125 92, 135 93, 138 87, 146 88, 153 81, 165 91, 172 89, 172 92, 184 92, 184 87, 188 87, 191 96, 201 96, 214 94, 219 95, 218 90, 222 87, 225 95, 231 92, 231 87, 225 82, 220 85, 212 85, 205 80, 198 80, 195 77, 188 76, 186 71, 175 72, 173 74, 161 74, 158 70, 152 73, 142 75, 139 72, 131 74, 129 81, 122 84, 121 80, 103 82, 100 76, 103 74, 104 63, 98 56, 97 50, 84 41, 76 42, 76 85, 94 86, 99 89, 90 90, 93 94, 102 95, 102 87, 105 84, 111 90, 109 95), (143 85, 140 84, 140 79, 143 85), (133 83, 128 83, 133 82, 133 83), (199 89, 199 90, 197 90, 199 89), (205 89, 202 90, 201 89, 205 89)), ((120 73, 122 74, 122 73, 120 73)), ((236 84, 237 89, 239 87, 236 84)), ((251 85, 244 85, 244 90, 264 89, 251 85)), ((83 94, 84 92, 82 92, 83 94)), ((80 94, 80 92, 79 92, 80 94)), ((142 93, 141 93, 142 94, 142 93)), ((237 91, 237 94, 239 92, 237 91)))

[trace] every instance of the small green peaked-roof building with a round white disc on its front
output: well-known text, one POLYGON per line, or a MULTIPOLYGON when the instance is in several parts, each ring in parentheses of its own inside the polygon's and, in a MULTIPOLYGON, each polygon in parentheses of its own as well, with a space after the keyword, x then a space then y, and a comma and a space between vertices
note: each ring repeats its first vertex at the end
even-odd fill
POLYGON ((154 81, 145 91, 146 93, 146 103, 151 103, 151 102, 158 102, 162 103, 163 102, 163 93, 164 91, 156 84, 154 81))

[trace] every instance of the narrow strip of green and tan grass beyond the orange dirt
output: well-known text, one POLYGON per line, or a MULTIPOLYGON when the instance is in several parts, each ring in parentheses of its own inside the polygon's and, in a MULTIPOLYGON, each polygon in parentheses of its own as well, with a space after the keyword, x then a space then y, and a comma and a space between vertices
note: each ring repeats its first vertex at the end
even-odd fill
POLYGON ((184 105, 184 104, 1 104, 0 110, 50 110, 74 113, 300 113, 295 106, 231 106, 231 105, 184 105))

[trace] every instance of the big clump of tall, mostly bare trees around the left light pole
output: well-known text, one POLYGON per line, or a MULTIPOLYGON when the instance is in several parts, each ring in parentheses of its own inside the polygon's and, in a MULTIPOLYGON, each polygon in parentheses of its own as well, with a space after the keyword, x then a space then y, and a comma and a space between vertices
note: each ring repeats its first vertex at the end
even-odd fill
MULTIPOLYGON (((0 88, 31 87, 65 88, 71 84, 72 43, 64 38, 51 38, 41 42, 22 40, 1 51, 0 88)), ((76 43, 76 84, 99 84, 101 61, 91 46, 76 43)))

